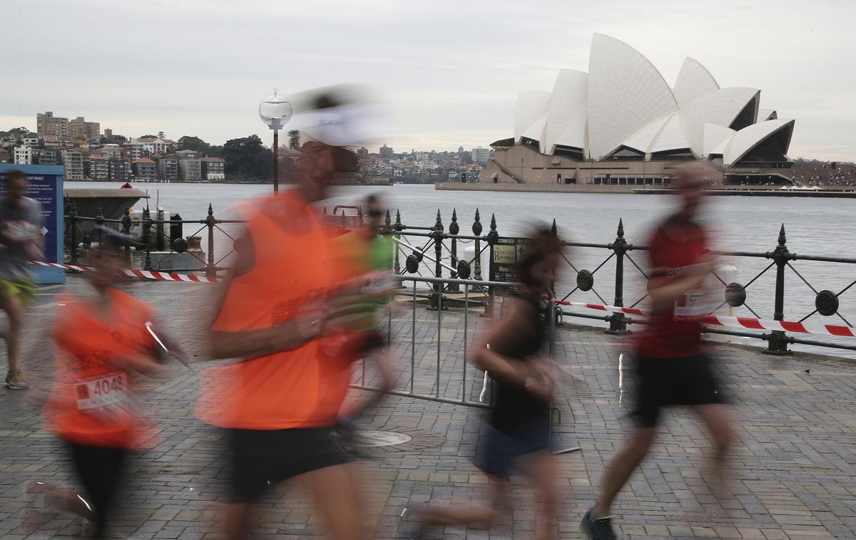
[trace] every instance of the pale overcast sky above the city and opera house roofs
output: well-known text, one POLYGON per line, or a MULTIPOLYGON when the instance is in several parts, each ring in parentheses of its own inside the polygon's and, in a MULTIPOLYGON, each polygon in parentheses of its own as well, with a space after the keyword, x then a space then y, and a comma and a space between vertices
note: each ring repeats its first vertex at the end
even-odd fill
POLYGON ((673 85, 684 56, 796 119, 790 155, 856 161, 851 0, 3 0, 0 129, 35 114, 210 143, 258 133, 261 97, 339 82, 389 102, 395 150, 512 135, 518 91, 588 69, 593 32, 673 85))

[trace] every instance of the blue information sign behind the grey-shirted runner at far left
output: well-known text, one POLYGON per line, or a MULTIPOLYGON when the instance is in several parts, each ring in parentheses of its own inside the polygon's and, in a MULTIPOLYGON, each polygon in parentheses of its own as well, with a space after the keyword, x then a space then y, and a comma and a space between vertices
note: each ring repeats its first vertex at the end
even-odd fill
MULTIPOLYGON (((19 170, 27 175, 29 187, 27 197, 42 205, 42 218, 45 222, 45 261, 64 262, 62 242, 65 238, 65 221, 62 215, 62 179, 65 167, 61 165, 13 165, 0 163, 0 184, 6 173, 19 170)), ((65 283, 65 271, 62 268, 34 267, 36 282, 65 283)))

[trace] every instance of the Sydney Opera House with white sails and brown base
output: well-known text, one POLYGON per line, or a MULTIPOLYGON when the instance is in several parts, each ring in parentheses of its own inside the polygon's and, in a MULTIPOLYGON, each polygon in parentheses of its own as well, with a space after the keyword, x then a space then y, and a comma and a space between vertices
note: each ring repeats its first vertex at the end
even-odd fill
POLYGON ((595 34, 588 73, 562 69, 553 91, 518 95, 514 138, 491 144, 479 181, 656 186, 707 159, 726 185, 790 184, 794 120, 761 105, 758 89, 720 88, 692 58, 669 86, 639 51, 595 34))

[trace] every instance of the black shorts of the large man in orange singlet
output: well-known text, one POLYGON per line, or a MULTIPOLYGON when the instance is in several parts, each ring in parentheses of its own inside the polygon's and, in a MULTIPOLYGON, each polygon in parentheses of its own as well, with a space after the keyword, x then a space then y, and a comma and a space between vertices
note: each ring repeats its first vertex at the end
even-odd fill
POLYGON ((230 487, 235 502, 252 502, 270 485, 348 462, 332 437, 331 427, 228 431, 230 487))

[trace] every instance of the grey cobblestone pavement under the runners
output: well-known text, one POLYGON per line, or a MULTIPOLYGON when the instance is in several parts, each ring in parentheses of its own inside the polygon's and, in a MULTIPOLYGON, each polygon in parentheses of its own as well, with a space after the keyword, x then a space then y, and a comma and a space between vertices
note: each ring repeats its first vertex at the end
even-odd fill
MULTIPOLYGON (((82 288, 79 277, 66 286, 43 287, 30 308, 24 369, 33 384, 50 386, 51 348, 47 328, 56 294, 82 288)), ((153 302, 163 325, 196 355, 211 302, 211 285, 134 283, 128 290, 153 302)), ((464 313, 416 309, 415 334, 410 304, 393 320, 393 352, 400 359, 398 390, 461 399, 478 399, 482 376, 463 361, 464 313), (439 339, 438 337, 439 329, 439 339), (437 345, 439 342, 439 346, 437 345), (437 384, 437 358, 441 361, 437 384), (413 364, 411 363, 413 361, 413 364)), ((478 339, 484 320, 467 314, 467 343, 478 339)), ((564 392, 556 400, 556 446, 580 446, 559 455, 556 484, 562 490, 560 532, 581 537, 580 516, 591 507, 604 463, 621 444, 627 422, 628 393, 618 388, 621 338, 594 329, 564 327, 556 358, 568 367, 564 392)), ((794 355, 772 357, 758 349, 716 346, 729 398, 736 406, 740 444, 730 470, 734 481, 722 498, 705 482, 706 438, 687 411, 666 415, 656 449, 633 475, 614 508, 620 537, 626 538, 856 538, 856 366, 847 361, 794 355)), ((362 376, 360 367, 356 376, 362 376)), ((625 380, 632 384, 626 367, 625 380)), ((366 384, 372 383, 367 370, 366 384)), ((158 421, 156 449, 134 456, 126 498, 112 534, 132 538, 217 538, 227 471, 220 456, 221 435, 193 418, 198 377, 179 365, 151 381, 142 397, 158 421)), ((631 389, 632 390, 632 389, 631 389)), ((360 391, 355 391, 360 394, 360 391)), ((28 404, 34 392, 0 390, 0 537, 23 538, 27 508, 23 485, 32 479, 74 484, 68 459, 56 437, 41 426, 39 409, 28 404)), ((630 392, 632 395, 632 391, 630 392)), ((409 537, 413 523, 401 509, 413 502, 449 504, 484 494, 486 484, 472 457, 484 412, 477 408, 390 396, 366 415, 366 428, 404 433, 409 443, 386 447, 366 459, 366 502, 379 509, 375 537, 409 537)), ((522 478, 513 478, 517 488, 522 478)), ((425 529, 428 538, 522 538, 533 530, 534 503, 516 489, 510 510, 490 529, 425 529)), ((260 531, 284 538, 321 534, 311 506, 291 485, 260 503, 260 531)), ((29 537, 69 537, 73 519, 56 515, 29 537)))

